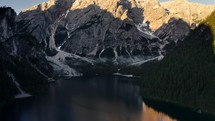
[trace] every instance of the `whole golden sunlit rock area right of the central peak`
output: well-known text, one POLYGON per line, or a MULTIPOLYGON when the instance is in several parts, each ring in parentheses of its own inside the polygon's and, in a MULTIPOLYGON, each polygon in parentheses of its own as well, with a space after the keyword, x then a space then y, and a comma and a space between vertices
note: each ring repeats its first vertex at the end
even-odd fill
POLYGON ((180 18, 189 25, 199 23, 209 16, 215 5, 203 5, 187 0, 175 0, 159 3, 157 0, 141 1, 144 7, 144 20, 150 22, 150 28, 157 30, 171 18, 180 18))

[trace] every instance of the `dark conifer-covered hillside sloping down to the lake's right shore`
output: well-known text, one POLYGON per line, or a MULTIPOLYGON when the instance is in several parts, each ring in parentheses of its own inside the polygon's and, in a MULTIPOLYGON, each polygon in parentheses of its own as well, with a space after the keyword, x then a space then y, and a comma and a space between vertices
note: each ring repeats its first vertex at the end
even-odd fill
POLYGON ((214 16, 208 17, 161 62, 142 71, 142 95, 215 112, 214 16))

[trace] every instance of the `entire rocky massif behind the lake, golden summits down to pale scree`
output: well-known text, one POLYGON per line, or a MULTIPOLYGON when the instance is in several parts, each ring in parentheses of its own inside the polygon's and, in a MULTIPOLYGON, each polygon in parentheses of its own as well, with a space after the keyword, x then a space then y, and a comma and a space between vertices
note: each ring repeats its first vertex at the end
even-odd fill
MULTIPOLYGON (((78 71, 84 70, 80 68, 102 64, 118 69, 147 59, 160 60, 174 49, 190 32, 188 14, 195 13, 191 5, 186 1, 50 0, 23 10, 11 19, 15 22, 9 22, 14 25, 2 18, 0 38, 9 42, 4 45, 9 54, 35 60, 41 57, 44 63, 36 65, 40 68, 49 63, 55 74, 80 75, 78 71), (172 8, 176 3, 177 9, 172 8), (187 13, 183 8, 192 11, 187 13), (23 36, 27 38, 17 42, 23 36), (33 45, 26 44, 26 39, 33 45), (29 55, 25 52, 28 46, 33 48, 29 55)), ((202 6, 199 16, 212 10, 196 6, 202 6)))

